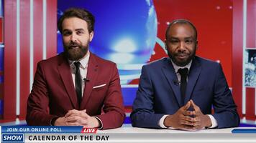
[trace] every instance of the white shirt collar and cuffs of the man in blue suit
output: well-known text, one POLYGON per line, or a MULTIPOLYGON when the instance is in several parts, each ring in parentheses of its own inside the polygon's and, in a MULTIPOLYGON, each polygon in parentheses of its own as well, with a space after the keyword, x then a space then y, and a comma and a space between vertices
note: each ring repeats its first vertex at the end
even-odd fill
MULTIPOLYGON (((188 68, 188 71, 189 71, 190 68, 191 68, 192 60, 191 60, 186 66, 178 66, 178 65, 176 65, 171 59, 170 59, 170 62, 173 64, 173 68, 174 68, 174 70, 175 70, 175 73, 176 73, 176 75, 177 75, 177 77, 178 77, 178 81, 179 81, 179 83, 180 83, 180 73, 178 73, 178 69, 180 69, 180 68, 182 68, 182 69, 188 68)), ((188 81, 188 78, 189 78, 189 77, 187 77, 187 81, 188 81)), ((211 114, 207 114, 207 115, 208 115, 208 116, 210 117, 210 119, 211 119, 211 127, 209 127, 209 128, 217 127, 218 124, 217 124, 217 122, 216 122, 216 119, 215 119, 211 114)), ((158 122, 159 126, 162 127, 162 128, 170 128, 170 129, 173 129, 172 127, 165 127, 165 124, 163 124, 163 122, 165 121, 165 118, 166 118, 166 117, 168 117, 168 114, 165 114, 165 115, 159 120, 159 122, 158 122)))

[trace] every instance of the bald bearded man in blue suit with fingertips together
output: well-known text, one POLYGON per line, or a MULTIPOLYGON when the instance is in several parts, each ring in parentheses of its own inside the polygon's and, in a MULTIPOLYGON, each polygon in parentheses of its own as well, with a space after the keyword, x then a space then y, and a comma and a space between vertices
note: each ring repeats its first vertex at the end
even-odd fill
POLYGON ((133 127, 195 130, 239 125, 221 65, 196 56, 197 48, 196 27, 190 21, 178 19, 168 26, 169 57, 142 67, 130 116, 133 127))

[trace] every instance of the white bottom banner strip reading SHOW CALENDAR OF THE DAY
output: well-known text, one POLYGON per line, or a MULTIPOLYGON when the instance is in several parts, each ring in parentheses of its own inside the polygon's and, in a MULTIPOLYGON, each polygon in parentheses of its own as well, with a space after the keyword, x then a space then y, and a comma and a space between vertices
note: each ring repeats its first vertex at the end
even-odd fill
MULTIPOLYGON (((13 134, 12 134, 13 135, 13 134)), ((255 134, 168 134, 168 133, 99 133, 99 134, 16 134, 1 142, 256 142, 255 134)), ((3 135, 2 135, 3 137, 3 135)))

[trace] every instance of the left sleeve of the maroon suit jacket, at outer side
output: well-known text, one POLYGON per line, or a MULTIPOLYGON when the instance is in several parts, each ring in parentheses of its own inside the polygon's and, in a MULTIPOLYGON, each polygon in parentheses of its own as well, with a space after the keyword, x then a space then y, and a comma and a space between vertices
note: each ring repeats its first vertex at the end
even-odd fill
POLYGON ((28 125, 50 125, 51 119, 57 117, 48 112, 49 97, 47 83, 42 69, 42 61, 37 64, 37 71, 31 94, 27 99, 27 124, 28 125))

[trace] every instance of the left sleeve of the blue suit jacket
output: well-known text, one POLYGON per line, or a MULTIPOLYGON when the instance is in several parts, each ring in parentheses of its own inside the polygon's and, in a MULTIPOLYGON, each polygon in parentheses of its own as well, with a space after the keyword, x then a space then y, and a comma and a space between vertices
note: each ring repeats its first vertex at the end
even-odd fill
POLYGON ((154 89, 146 66, 142 67, 139 89, 130 115, 133 127, 161 128, 158 124, 164 114, 154 112, 154 89))

